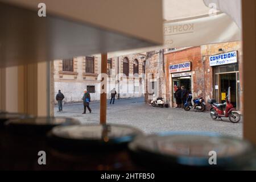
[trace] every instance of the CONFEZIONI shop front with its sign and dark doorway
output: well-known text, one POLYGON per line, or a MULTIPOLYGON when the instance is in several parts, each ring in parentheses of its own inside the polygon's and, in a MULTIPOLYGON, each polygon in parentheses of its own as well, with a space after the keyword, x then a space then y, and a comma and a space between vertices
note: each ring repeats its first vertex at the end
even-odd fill
POLYGON ((228 98, 234 107, 240 110, 241 90, 237 55, 237 51, 232 51, 210 56, 209 61, 214 72, 214 97, 220 103, 224 103, 225 98, 228 98))

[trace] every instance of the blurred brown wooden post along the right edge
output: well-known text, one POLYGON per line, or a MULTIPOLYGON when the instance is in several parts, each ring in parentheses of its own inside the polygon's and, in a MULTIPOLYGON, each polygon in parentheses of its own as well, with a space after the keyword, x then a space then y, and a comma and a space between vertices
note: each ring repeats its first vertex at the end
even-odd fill
POLYGON ((256 2, 242 1, 243 21, 243 135, 256 144, 256 2))

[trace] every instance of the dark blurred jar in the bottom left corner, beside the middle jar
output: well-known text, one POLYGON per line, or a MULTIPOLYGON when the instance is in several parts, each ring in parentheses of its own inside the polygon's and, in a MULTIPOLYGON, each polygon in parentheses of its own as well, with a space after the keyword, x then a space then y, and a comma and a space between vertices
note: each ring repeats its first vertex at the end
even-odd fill
POLYGON ((1 129, 0 169, 36 170, 39 151, 47 152, 46 133, 58 125, 79 125, 70 118, 11 119, 1 129), (3 138, 2 138, 3 137, 3 138))

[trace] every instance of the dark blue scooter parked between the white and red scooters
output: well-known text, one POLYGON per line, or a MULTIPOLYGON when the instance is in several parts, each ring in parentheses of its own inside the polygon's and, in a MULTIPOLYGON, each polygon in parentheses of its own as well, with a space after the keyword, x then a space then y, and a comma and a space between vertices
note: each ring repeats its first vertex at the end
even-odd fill
POLYGON ((206 106, 203 97, 193 100, 194 105, 192 104, 192 98, 192 94, 189 94, 187 102, 184 104, 184 110, 189 111, 191 109, 196 109, 201 112, 205 111, 206 106))

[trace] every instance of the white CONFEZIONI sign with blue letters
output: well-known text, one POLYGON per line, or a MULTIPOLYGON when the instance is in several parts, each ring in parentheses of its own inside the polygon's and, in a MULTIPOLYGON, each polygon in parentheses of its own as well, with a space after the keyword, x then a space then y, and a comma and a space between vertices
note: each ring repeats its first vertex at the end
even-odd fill
POLYGON ((237 51, 210 56, 210 67, 224 64, 237 63, 237 51))

